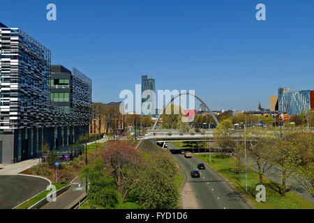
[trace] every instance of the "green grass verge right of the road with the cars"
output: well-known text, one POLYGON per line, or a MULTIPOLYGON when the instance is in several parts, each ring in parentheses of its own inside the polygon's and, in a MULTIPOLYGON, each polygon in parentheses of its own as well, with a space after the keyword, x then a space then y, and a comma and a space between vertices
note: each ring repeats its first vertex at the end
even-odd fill
MULTIPOLYGON (((195 155, 203 162, 209 164, 209 155, 195 155)), ((278 184, 263 176, 263 185, 266 187, 266 202, 257 202, 255 199, 255 188, 260 184, 259 176, 253 169, 248 169, 248 192, 245 191, 245 173, 239 176, 234 172, 234 158, 226 157, 223 159, 220 155, 212 154, 211 167, 216 169, 225 178, 229 179, 232 185, 240 192, 244 192, 246 198, 251 201, 257 209, 314 209, 314 203, 304 199, 294 192, 287 192, 282 197, 278 191, 278 184)))

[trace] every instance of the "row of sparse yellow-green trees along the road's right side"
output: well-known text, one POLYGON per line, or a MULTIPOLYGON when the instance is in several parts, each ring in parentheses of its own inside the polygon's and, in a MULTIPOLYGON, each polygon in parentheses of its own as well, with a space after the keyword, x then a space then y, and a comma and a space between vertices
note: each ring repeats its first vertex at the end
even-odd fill
POLYGON ((252 160, 263 183, 264 174, 276 167, 281 173, 281 194, 287 191, 287 178, 294 176, 299 185, 314 194, 314 132, 292 126, 282 130, 267 131, 248 128, 244 132, 232 129, 230 118, 222 121, 214 133, 215 146, 232 148, 236 158, 238 174, 244 171, 244 148, 252 160), (246 143, 246 145, 244 145, 246 143))

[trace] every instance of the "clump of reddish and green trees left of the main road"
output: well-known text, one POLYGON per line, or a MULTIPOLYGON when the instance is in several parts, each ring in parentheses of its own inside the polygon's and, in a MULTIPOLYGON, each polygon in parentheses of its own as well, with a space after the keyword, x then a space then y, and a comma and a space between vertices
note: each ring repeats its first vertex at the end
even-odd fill
POLYGON ((124 141, 109 141, 98 149, 80 177, 89 181, 91 203, 111 207, 126 201, 141 208, 177 208, 178 168, 170 155, 147 155, 124 141))

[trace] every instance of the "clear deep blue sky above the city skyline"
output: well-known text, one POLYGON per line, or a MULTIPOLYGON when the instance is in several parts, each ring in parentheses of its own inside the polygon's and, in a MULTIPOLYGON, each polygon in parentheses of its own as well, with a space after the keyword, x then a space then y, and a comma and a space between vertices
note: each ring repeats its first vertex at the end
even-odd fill
POLYGON ((1 1, 0 22, 93 80, 94 102, 119 101, 141 75, 192 89, 211 109, 269 108, 278 87, 314 90, 314 1, 1 1), (55 3, 57 21, 46 20, 55 3), (266 21, 255 19, 264 3, 266 21))

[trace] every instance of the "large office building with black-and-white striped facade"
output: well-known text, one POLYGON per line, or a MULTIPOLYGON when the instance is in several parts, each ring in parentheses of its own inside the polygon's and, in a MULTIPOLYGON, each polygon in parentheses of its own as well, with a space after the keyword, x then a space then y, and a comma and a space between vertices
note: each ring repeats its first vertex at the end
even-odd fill
MULTIPOLYGON (((91 80, 75 70, 69 83, 73 98, 63 105, 51 102, 50 50, 1 23, 0 75, 0 163, 37 157, 43 144, 56 149, 88 133, 91 80)), ((62 102, 66 97, 61 95, 62 102)))

